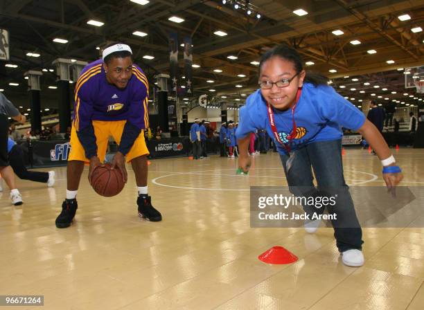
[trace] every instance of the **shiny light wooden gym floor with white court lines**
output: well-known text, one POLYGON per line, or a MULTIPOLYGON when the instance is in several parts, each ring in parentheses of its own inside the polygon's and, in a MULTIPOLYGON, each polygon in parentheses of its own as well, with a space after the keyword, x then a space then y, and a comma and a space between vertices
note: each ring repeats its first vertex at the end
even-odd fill
MULTIPOLYGON (((400 149, 396 158, 403 185, 424 185, 423 149, 400 149)), ((236 176, 236 163, 152 161, 159 223, 137 217, 131 171, 108 199, 90 188, 86 170, 76 221, 61 230, 54 221, 66 168, 54 168, 54 188, 18 179, 24 205, 0 193, 0 295, 44 295, 44 307, 33 309, 56 310, 424 309, 424 228, 364 228, 364 266, 344 266, 330 228, 250 228, 249 185, 287 183, 276 153, 255 156, 249 176, 236 176), (299 261, 260 262, 275 245, 299 261)), ((350 185, 383 185, 378 158, 366 150, 346 149, 344 169, 350 185)), ((416 221, 424 227, 424 216, 416 221)))

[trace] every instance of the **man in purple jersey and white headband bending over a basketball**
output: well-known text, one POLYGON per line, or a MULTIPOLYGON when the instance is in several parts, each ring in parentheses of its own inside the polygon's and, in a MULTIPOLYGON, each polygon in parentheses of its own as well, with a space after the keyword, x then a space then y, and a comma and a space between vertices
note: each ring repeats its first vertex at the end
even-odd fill
POLYGON ((161 221, 148 195, 148 148, 143 130, 148 128, 148 80, 133 64, 130 46, 110 44, 103 59, 85 66, 75 86, 71 152, 67 169, 67 197, 56 227, 66 228, 76 215, 76 195, 84 163, 89 163, 89 180, 105 159, 109 136, 119 145, 112 167, 121 170, 127 182, 125 160, 131 163, 138 188, 139 217, 161 221))

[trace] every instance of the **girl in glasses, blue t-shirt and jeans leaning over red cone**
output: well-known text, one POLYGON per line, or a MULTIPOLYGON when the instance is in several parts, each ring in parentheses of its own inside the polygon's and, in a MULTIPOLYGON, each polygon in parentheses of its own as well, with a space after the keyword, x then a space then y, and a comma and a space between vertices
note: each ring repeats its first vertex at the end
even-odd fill
MULTIPOLYGON (((236 132, 239 167, 244 172, 249 170, 250 133, 265 128, 277 145, 290 192, 305 197, 337 195, 335 206, 328 208, 328 213, 337 215, 332 220, 337 248, 344 264, 362 266, 362 230, 344 181, 341 127, 358 131, 376 150, 387 188, 394 190, 403 176, 387 143, 362 111, 328 86, 326 78, 303 70, 301 57, 293 48, 276 46, 263 55, 259 86, 240 109, 236 132)), ((324 210, 305 207, 305 211, 324 210)), ((312 226, 309 231, 316 228, 312 226)))

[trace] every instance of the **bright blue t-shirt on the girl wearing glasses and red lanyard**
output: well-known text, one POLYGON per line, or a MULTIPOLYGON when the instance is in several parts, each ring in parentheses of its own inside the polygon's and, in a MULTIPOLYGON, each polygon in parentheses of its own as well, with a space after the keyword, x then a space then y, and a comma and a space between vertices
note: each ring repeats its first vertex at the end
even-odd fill
MULTIPOLYGON (((279 137, 288 143, 287 136, 293 129, 292 109, 279 111, 273 109, 279 137)), ((365 122, 365 116, 351 102, 336 93, 333 87, 310 83, 303 84, 301 97, 294 111, 297 134, 290 141, 292 150, 299 149, 316 141, 339 140, 342 127, 357 131, 365 122)), ((240 109, 240 121, 236 136, 244 138, 255 129, 265 128, 276 143, 280 154, 286 154, 283 146, 276 141, 268 119, 267 104, 260 89, 249 95, 246 105, 240 109)))

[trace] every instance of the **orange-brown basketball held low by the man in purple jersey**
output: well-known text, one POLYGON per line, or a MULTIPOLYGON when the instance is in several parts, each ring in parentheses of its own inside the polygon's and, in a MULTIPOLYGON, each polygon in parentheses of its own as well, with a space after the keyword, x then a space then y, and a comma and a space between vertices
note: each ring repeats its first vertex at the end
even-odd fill
POLYGON ((112 169, 108 163, 94 169, 90 183, 94 191, 104 197, 119 194, 125 185, 121 170, 118 168, 112 169))

